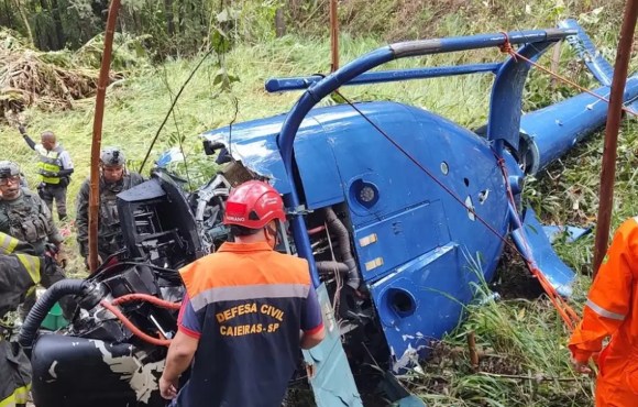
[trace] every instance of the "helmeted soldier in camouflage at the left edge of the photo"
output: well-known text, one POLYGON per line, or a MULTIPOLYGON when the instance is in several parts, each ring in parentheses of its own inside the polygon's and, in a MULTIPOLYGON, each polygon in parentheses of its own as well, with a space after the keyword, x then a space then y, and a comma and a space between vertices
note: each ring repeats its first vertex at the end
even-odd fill
MULTIPOLYGON (((20 187, 20 167, 12 162, 0 162, 0 232, 33 246, 34 254, 42 256, 47 251, 47 243, 62 250, 63 239, 51 217, 48 207, 31 190, 20 187)), ((43 286, 50 287, 53 283, 65 278, 64 273, 53 279, 44 279, 43 286)), ((31 292, 23 306, 21 317, 35 304, 35 290, 31 292)), ((68 310, 68 309, 67 309, 68 310)), ((66 314, 67 315, 67 314, 66 314)))

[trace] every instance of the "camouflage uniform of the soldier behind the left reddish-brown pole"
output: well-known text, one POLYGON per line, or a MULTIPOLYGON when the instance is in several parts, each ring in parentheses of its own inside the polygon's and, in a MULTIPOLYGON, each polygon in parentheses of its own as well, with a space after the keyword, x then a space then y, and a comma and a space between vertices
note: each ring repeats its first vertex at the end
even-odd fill
MULTIPOLYGON (((100 177, 100 208, 98 219, 98 253, 102 260, 116 253, 124 246, 120 217, 118 216, 117 195, 142 184, 144 178, 138 173, 124 174, 123 178, 113 184, 107 184, 100 177)), ((89 248, 89 179, 80 187, 77 197, 77 242, 80 255, 88 257, 89 248)))

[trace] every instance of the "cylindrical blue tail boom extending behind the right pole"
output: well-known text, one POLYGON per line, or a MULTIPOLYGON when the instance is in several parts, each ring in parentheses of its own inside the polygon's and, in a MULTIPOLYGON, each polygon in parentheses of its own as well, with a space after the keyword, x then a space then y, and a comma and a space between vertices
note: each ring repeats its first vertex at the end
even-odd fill
MULTIPOLYGON (((608 99, 610 88, 595 89, 608 99)), ((627 79, 625 100, 638 96, 638 76, 627 79)), ((607 103, 581 94, 560 103, 527 113, 520 121, 520 131, 529 145, 528 172, 536 174, 564 155, 579 141, 605 124, 607 103)))

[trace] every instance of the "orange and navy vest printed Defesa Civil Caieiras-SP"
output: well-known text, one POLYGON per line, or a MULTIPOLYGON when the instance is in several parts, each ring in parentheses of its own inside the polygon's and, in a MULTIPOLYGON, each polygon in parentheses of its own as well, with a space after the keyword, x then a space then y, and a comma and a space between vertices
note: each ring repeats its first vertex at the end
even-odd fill
POLYGON ((199 344, 177 406, 279 406, 310 306, 308 263, 265 242, 227 242, 179 273, 199 331, 179 329, 199 344))

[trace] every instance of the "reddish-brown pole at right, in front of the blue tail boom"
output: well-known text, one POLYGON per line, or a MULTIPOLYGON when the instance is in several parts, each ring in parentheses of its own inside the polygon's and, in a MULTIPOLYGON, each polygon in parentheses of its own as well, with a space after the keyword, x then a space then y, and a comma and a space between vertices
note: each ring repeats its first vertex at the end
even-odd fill
POLYGON ((614 205, 614 180, 616 177, 616 146, 618 144, 618 129, 623 113, 623 94, 627 82, 627 69, 631 57, 631 45, 636 30, 636 16, 638 15, 638 0, 627 0, 625 16, 620 29, 618 52, 614 66, 614 79, 612 81, 612 95, 607 111, 607 124, 605 129, 605 147, 603 151, 603 169, 601 172, 601 204, 598 207, 598 220, 596 227, 596 243, 594 251, 594 276, 603 262, 609 240, 609 223, 614 205))

